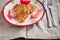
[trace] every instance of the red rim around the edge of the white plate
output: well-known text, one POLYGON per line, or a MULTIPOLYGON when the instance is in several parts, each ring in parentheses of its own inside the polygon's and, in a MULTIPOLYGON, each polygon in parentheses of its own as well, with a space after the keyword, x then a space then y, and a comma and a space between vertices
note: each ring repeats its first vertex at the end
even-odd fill
POLYGON ((45 9, 43 3, 42 3, 41 1, 38 1, 38 2, 42 5, 43 10, 44 10, 42 17, 41 17, 38 21, 36 21, 36 22, 34 22, 34 23, 31 23, 31 24, 26 24, 26 25, 17 25, 17 24, 13 24, 13 23, 9 22, 9 21, 4 17, 4 9, 5 9, 5 7, 6 7, 10 2, 11 2, 11 0, 8 1, 8 2, 3 6, 3 8, 2 8, 2 16, 3 16, 4 20, 5 20, 7 23, 9 23, 9 24, 11 24, 11 25, 13 25, 13 26, 19 26, 19 27, 22 26, 22 27, 24 27, 24 26, 31 26, 31 25, 34 25, 34 24, 38 23, 39 21, 41 21, 41 20, 43 19, 44 15, 46 14, 46 9, 45 9))

